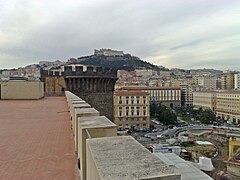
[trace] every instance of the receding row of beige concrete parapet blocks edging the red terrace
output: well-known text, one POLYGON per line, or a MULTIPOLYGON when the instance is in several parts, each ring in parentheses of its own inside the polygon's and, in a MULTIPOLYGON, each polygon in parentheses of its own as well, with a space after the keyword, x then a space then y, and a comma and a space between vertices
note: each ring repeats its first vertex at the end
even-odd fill
MULTIPOLYGON (((117 136, 117 126, 66 91, 74 111, 74 140, 82 180, 179 180, 180 175, 130 136, 117 136), (76 107, 74 107, 76 106, 76 107), (77 106, 80 106, 77 108, 77 106)), ((72 116, 72 115, 71 115, 72 116)))

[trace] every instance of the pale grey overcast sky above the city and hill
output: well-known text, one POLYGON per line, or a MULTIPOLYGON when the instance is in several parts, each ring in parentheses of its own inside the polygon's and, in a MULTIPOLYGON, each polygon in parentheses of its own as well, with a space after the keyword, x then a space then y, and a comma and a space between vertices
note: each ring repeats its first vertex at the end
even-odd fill
POLYGON ((240 0, 0 0, 0 69, 99 48, 168 68, 240 70, 240 0))

